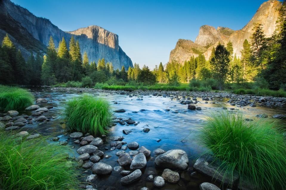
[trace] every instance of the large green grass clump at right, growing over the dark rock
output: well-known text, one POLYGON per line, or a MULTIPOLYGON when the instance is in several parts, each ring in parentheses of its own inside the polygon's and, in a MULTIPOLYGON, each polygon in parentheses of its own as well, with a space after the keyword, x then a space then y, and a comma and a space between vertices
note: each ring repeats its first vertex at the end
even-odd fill
POLYGON ((284 189, 286 145, 280 129, 269 120, 249 122, 241 112, 221 112, 207 119, 199 139, 221 161, 225 175, 237 171, 257 189, 284 189))

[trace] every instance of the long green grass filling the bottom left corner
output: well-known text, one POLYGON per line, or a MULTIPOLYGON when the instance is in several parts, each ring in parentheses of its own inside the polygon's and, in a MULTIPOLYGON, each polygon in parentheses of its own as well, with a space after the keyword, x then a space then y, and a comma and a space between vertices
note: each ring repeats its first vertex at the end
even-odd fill
POLYGON ((48 138, 16 140, 0 133, 0 186, 7 190, 79 189, 75 161, 67 147, 49 144, 48 138))

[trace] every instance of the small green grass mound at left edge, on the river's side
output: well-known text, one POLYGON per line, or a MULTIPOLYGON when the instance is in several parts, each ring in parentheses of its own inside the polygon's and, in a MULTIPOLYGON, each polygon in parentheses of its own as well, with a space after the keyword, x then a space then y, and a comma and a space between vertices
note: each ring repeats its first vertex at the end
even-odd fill
POLYGON ((22 110, 33 102, 34 96, 27 90, 0 85, 0 110, 22 110))

